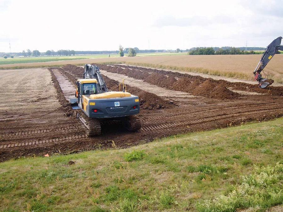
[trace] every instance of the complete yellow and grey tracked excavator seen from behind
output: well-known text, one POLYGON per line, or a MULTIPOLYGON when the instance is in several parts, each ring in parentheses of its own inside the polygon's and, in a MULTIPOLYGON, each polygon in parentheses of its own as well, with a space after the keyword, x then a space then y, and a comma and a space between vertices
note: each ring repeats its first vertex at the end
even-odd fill
POLYGON ((139 98, 126 92, 124 80, 122 86, 122 91, 108 91, 99 68, 85 65, 83 78, 76 82, 76 98, 70 103, 73 109, 81 110, 76 112, 77 118, 87 128, 88 136, 100 135, 100 122, 108 120, 120 121, 129 131, 141 128, 141 121, 135 116, 140 112, 139 98))

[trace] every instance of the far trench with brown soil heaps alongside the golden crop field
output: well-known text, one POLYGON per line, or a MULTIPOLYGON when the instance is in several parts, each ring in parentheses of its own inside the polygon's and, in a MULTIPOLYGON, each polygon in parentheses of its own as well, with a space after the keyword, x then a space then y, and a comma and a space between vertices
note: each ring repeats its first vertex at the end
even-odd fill
POLYGON ((229 90, 228 88, 246 92, 256 92, 266 95, 283 95, 282 86, 269 86, 266 89, 260 89, 255 84, 215 80, 211 78, 203 78, 201 76, 152 68, 141 68, 125 65, 97 65, 101 69, 106 70, 108 72, 124 74, 134 79, 143 80, 149 84, 158 85, 160 87, 165 87, 171 90, 188 92, 193 95, 206 96, 216 99, 237 98, 238 95, 235 92, 229 90))

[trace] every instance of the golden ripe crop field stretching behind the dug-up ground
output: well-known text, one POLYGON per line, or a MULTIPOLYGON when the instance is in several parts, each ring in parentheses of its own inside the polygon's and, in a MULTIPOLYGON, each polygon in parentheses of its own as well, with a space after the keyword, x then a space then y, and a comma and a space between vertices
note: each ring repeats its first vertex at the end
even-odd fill
MULTIPOLYGON (((86 63, 127 63, 130 65, 163 68, 187 72, 206 73, 210 75, 238 79, 253 79, 252 72, 261 55, 166 55, 144 57, 112 57, 95 59, 77 59, 51 61, 42 63, 19 63, 1 65, 0 69, 54 67, 66 64, 83 65, 86 63)), ((283 54, 275 55, 264 71, 269 79, 283 82, 283 54)))

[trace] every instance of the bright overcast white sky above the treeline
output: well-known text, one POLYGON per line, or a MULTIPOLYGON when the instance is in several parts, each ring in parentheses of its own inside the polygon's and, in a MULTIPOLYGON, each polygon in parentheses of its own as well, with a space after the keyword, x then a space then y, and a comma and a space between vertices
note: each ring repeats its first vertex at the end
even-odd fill
POLYGON ((266 47, 283 36, 280 0, 0 0, 0 52, 266 47))

